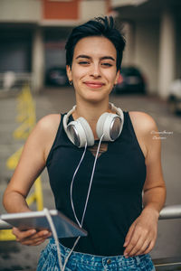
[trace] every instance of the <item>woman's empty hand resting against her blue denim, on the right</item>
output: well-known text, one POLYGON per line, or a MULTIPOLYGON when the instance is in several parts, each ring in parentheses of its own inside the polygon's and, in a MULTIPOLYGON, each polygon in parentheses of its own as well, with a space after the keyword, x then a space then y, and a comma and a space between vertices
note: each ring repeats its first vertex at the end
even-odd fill
POLYGON ((137 220, 129 228, 125 238, 125 257, 134 257, 149 253, 155 246, 157 239, 156 210, 144 209, 137 220))

